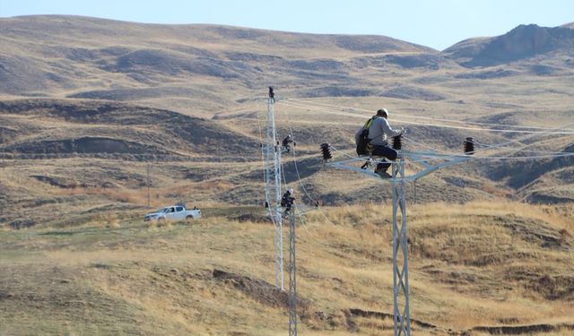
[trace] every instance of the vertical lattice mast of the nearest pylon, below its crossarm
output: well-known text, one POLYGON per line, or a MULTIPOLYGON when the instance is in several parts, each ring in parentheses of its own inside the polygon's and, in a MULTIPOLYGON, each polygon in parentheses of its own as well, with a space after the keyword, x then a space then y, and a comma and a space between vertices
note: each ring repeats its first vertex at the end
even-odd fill
POLYGON ((409 312, 409 265, 408 236, 406 231, 406 190, 404 180, 404 160, 393 162, 393 299, 395 336, 411 335, 411 315, 409 312), (401 225, 398 225, 396 212, 401 211, 401 225))

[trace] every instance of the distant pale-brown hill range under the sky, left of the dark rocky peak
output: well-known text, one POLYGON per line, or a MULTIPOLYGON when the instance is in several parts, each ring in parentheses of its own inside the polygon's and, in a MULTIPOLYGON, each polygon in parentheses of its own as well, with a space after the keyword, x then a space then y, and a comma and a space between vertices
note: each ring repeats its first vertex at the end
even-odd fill
MULTIPOLYGON (((214 85, 230 89, 265 87, 266 82, 357 81, 334 55, 434 52, 382 36, 74 16, 3 18, 0 39, 0 92, 132 100, 205 95, 211 104, 217 102, 214 85), (188 82, 190 76, 196 81, 188 82), (159 90, 143 89, 151 86, 159 90)), ((208 103, 197 105, 202 104, 208 103)))

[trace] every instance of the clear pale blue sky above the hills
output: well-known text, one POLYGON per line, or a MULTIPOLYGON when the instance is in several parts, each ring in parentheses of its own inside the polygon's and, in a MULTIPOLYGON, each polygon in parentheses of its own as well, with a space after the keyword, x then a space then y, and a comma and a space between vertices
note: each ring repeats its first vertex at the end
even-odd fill
POLYGON ((213 23, 319 34, 384 35, 435 49, 519 24, 574 22, 573 0, 0 0, 0 17, 68 14, 213 23))

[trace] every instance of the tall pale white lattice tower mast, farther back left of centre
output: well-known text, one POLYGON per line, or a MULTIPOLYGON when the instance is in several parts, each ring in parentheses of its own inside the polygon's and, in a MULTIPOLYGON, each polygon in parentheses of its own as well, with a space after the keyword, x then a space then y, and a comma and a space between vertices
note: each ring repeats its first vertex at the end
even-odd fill
POLYGON ((265 201, 268 214, 275 227, 275 286, 283 288, 283 218, 281 213, 281 148, 275 134, 275 99, 267 99, 267 117, 265 127, 265 201))

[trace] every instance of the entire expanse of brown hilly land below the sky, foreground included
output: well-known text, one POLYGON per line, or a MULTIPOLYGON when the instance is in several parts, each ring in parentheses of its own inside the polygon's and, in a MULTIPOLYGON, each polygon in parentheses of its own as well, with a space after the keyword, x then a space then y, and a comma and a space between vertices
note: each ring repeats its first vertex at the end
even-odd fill
POLYGON ((382 107, 405 150, 477 144, 406 185, 413 332, 571 333, 573 31, 521 25, 439 51, 0 18, 0 334, 284 334, 262 193, 268 86, 279 140, 297 142, 284 185, 321 204, 297 227, 301 334, 392 334, 390 187, 318 154, 354 156, 382 107), (204 219, 142 222, 174 202, 204 219))

